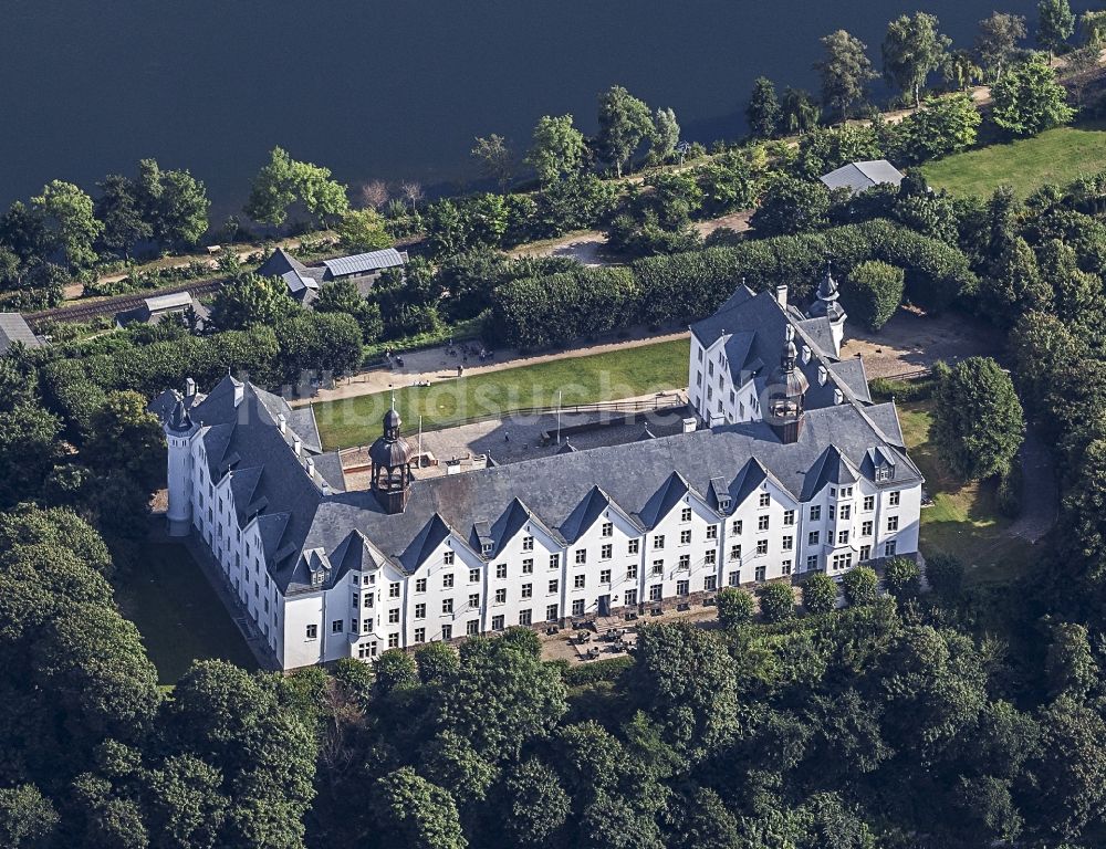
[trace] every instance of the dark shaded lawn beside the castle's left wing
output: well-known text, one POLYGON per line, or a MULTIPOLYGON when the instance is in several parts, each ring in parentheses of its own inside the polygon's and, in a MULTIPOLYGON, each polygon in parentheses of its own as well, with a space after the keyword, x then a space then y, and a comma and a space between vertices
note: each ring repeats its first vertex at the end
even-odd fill
POLYGON ((147 543, 138 565, 118 579, 123 614, 142 633, 161 684, 171 685, 194 660, 219 658, 257 669, 253 653, 181 545, 147 543))

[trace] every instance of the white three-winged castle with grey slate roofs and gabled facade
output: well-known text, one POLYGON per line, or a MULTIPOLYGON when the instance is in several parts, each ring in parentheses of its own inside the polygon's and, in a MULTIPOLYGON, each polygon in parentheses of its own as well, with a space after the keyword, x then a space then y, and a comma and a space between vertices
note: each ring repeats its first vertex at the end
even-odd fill
POLYGON ((828 272, 806 314, 742 286, 691 327, 707 427, 422 476, 393 410, 362 490, 310 408, 189 381, 152 405, 170 533, 204 541, 285 669, 911 554, 921 474, 894 403, 839 359, 844 321, 828 272))

